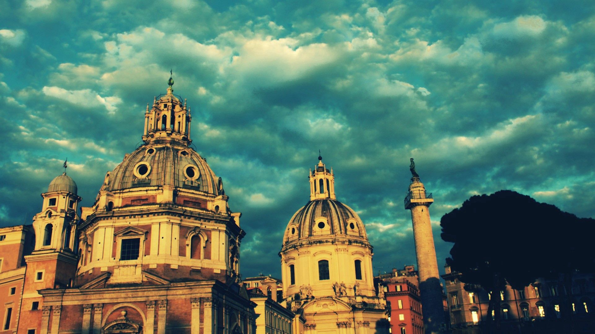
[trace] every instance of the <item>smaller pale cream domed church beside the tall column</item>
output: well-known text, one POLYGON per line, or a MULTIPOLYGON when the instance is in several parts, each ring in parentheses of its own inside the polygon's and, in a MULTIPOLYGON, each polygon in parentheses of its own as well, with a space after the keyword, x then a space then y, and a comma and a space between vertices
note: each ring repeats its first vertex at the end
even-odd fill
POLYGON ((305 319, 304 333, 388 333, 364 223, 336 200, 333 171, 318 159, 308 175, 310 201, 283 236, 284 302, 305 319))

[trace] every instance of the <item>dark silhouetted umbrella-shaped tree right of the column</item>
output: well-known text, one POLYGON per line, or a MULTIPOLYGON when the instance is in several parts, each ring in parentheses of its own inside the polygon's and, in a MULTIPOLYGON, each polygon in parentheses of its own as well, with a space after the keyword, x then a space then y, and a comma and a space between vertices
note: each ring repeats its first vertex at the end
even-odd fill
MULTIPOLYGON (((488 314, 500 317, 506 282, 522 289, 539 277, 593 272, 587 235, 594 219, 579 219, 511 190, 473 196, 440 220, 441 237, 454 242, 447 264, 461 281, 490 292, 488 314)), ((488 320, 491 320, 488 317, 488 320)))

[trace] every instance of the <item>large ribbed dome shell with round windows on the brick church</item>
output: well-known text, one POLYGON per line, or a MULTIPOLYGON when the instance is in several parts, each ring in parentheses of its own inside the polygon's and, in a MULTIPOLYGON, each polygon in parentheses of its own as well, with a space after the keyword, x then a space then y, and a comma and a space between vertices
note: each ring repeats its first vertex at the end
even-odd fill
POLYGON ((223 185, 203 159, 190 147, 153 143, 143 145, 109 175, 107 190, 172 185, 214 194, 223 193, 223 185))

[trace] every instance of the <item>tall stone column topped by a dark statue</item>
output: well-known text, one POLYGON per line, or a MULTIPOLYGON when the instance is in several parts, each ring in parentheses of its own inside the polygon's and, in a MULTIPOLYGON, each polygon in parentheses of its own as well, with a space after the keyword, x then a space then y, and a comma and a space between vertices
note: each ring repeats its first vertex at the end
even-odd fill
POLYGON ((405 209, 411 210, 413 234, 415 238, 415 255, 419 272, 419 294, 421 310, 424 316, 425 333, 439 333, 440 324, 444 322, 442 305, 442 287, 436 261, 436 248, 430 223, 430 204, 434 202, 431 193, 425 192, 424 184, 419 181, 415 172, 415 163, 411 158, 411 184, 405 197, 405 209))

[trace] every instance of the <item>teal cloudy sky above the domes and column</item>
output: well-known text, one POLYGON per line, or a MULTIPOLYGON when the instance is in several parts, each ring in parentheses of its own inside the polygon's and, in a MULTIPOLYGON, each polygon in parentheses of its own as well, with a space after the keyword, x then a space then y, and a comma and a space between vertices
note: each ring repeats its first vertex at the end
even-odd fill
POLYGON ((280 274, 318 149, 337 199, 364 220, 376 272, 415 263, 409 157, 434 193, 441 272, 440 218, 474 194, 511 189, 595 218, 595 2, 0 7, 0 226, 31 222, 66 157, 91 205, 170 68, 197 152, 243 213, 243 276, 280 274))

